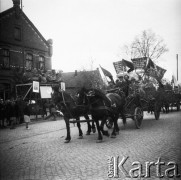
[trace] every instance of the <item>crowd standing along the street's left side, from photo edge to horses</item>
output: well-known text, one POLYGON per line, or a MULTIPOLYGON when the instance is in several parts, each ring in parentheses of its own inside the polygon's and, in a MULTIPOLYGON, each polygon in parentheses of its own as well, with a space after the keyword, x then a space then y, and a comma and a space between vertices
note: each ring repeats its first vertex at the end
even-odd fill
MULTIPOLYGON (((42 101, 41 105, 43 112, 41 111, 39 113, 42 115, 42 118, 49 119, 53 117, 55 121, 57 116, 62 116, 61 112, 57 111, 55 104, 51 100, 42 101)), ((36 110, 38 111, 38 109, 33 109, 29 101, 24 101, 22 98, 5 101, 0 99, 0 128, 8 127, 10 129, 15 129, 17 124, 25 123, 26 129, 30 129, 30 115, 38 113, 34 112, 36 110)))

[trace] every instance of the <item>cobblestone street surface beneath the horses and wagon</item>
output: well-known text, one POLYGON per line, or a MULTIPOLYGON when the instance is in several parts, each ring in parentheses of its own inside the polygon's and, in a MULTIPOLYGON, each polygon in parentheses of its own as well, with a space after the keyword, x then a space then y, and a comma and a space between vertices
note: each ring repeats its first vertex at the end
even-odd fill
MULTIPOLYGON (((0 130, 0 179, 1 180, 105 180, 108 177, 108 157, 128 157, 124 168, 129 172, 133 162, 140 162, 145 173, 145 162, 165 162, 165 170, 177 163, 177 174, 181 174, 181 112, 161 114, 160 120, 145 113, 141 129, 134 121, 127 120, 123 129, 119 120, 120 133, 115 139, 104 136, 102 143, 96 143, 97 132, 78 139, 78 129, 71 124, 72 140, 65 144, 65 123, 63 120, 44 121, 30 124, 30 130, 18 126, 14 130, 0 130)), ((84 134, 86 123, 82 123, 84 134)), ((112 131, 109 130, 110 132, 112 131)), ((117 179, 131 179, 118 170, 117 179)), ((171 171, 173 172, 173 171, 171 171)), ((155 166, 151 167, 150 178, 156 177, 155 166)), ((134 178, 137 179, 137 178, 134 178)), ((173 178, 174 179, 174 178, 173 178)), ((180 179, 180 177, 175 179, 180 179)))

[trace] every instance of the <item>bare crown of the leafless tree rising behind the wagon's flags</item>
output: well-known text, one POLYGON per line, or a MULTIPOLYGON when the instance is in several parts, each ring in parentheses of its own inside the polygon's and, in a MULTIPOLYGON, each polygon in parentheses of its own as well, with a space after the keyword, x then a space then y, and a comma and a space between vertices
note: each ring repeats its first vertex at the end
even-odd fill
POLYGON ((160 36, 151 30, 144 30, 130 45, 124 46, 124 51, 131 59, 148 57, 155 61, 168 49, 160 36))

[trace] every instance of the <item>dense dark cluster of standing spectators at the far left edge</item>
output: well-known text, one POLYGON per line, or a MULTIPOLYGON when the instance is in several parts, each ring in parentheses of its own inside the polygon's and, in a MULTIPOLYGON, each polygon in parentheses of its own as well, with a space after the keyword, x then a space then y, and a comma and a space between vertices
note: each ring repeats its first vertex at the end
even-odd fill
POLYGON ((25 122, 24 115, 30 116, 27 102, 21 99, 6 101, 0 99, 0 128, 10 127, 10 129, 15 129, 16 124, 25 122))

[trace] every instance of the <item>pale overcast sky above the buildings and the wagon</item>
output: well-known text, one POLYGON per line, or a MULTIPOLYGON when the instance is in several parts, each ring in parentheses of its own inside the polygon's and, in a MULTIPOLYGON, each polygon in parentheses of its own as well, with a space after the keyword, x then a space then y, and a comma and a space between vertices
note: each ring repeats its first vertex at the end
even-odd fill
MULTIPOLYGON (((181 0, 22 0, 23 11, 46 40, 53 39, 53 69, 91 70, 101 65, 116 77, 113 62, 128 59, 122 47, 143 30, 169 49, 158 59, 165 78, 181 69, 181 0)), ((13 6, 0 0, 0 12, 13 6)), ((179 72, 181 82, 181 72, 179 72)))

